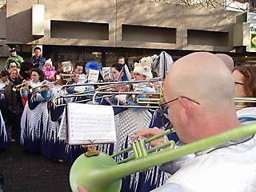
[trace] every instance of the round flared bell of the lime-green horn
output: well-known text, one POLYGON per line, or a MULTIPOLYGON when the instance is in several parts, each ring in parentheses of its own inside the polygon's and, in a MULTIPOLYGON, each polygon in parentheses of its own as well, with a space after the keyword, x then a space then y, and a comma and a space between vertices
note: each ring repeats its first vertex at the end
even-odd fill
POLYGON ((114 162, 113 158, 102 152, 98 156, 93 157, 86 157, 85 154, 81 154, 70 169, 71 190, 78 192, 78 186, 83 185, 90 192, 120 191, 122 179, 116 181, 116 177, 109 174, 110 179, 113 178, 113 182, 105 182, 103 178, 106 178, 106 175, 103 177, 102 174, 99 174, 99 171, 116 165, 117 163, 114 162))

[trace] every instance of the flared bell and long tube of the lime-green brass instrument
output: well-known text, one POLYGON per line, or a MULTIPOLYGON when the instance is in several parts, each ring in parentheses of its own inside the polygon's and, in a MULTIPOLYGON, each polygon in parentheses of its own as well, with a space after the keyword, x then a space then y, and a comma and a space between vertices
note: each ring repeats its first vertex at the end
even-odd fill
MULTIPOLYGON (((158 150, 146 154, 138 160, 118 164, 108 154, 100 153, 98 156, 87 157, 81 154, 70 169, 70 187, 72 191, 78 191, 78 186, 86 186, 89 192, 115 192, 120 191, 122 178, 138 171, 149 169, 152 166, 161 165, 174 159, 182 158, 210 147, 216 147, 228 142, 234 142, 256 134, 256 122, 246 126, 239 126, 232 130, 226 130, 222 134, 216 134, 209 138, 203 138, 197 142, 191 142, 175 149, 158 150)), ((162 136, 161 136, 162 137, 162 136)), ((139 144, 140 145, 140 144, 139 144)), ((142 150, 145 147, 142 147, 142 150)))

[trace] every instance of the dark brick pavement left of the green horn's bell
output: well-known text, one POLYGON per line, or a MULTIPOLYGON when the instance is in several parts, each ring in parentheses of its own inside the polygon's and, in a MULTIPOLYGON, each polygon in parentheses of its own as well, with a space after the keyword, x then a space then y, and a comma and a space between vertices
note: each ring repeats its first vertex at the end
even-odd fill
POLYGON ((11 143, 0 153, 4 192, 70 192, 70 162, 58 162, 42 154, 30 154, 11 143))

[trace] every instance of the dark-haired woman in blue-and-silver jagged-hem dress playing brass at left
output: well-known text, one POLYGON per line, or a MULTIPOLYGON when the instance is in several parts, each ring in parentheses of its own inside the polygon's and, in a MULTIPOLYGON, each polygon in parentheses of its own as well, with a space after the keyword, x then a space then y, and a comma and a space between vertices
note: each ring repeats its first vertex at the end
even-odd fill
MULTIPOLYGON (((42 85, 45 75, 42 70, 34 69, 31 73, 30 86, 42 85)), ((26 82, 24 80, 23 82, 26 82)), ((30 92, 28 89, 21 90, 22 97, 28 97, 21 119, 20 145, 29 152, 41 152, 42 133, 47 130, 48 110, 47 102, 50 94, 44 90, 42 92, 30 92)))

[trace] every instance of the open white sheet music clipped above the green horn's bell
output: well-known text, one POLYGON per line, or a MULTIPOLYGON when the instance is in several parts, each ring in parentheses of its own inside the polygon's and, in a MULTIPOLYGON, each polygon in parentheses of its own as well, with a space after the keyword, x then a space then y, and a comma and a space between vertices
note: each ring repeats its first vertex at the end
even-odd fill
POLYGON ((68 103, 66 120, 69 145, 116 142, 112 106, 68 103))

